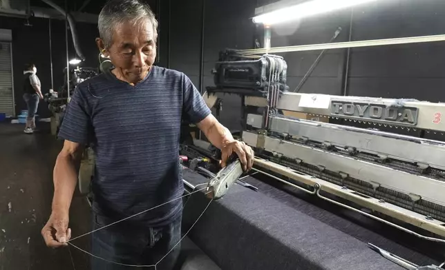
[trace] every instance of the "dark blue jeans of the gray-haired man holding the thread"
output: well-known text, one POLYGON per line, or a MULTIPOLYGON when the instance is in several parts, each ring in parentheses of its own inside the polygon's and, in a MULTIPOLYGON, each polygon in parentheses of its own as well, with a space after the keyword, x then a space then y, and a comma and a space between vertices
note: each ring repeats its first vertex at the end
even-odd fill
MULTIPOLYGON (((169 256, 162 259, 156 270, 173 270, 180 253, 181 238, 180 215, 169 225, 161 227, 147 227, 135 225, 132 222, 120 222, 93 233, 92 253, 99 258, 91 258, 92 270, 128 270, 140 267, 125 267, 111 262, 131 265, 156 264, 171 249, 169 256)), ((93 229, 99 229, 111 224, 104 216, 93 214, 93 229)), ((144 269, 155 269, 149 267, 144 269)))

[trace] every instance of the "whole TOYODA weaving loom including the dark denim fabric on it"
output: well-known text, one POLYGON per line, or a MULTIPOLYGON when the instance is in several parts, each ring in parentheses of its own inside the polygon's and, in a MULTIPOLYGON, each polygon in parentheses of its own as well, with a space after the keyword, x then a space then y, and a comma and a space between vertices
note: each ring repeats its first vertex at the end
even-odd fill
MULTIPOLYGON (((191 239, 223 269, 403 269, 367 242, 421 266, 439 265, 445 251, 445 105, 288 92, 283 58, 238 56, 220 59, 216 87, 207 87, 204 97, 213 107, 217 93, 242 96, 240 140, 255 150, 254 171, 263 175, 245 182, 260 192, 232 187, 191 239), (231 234, 215 236, 208 228, 231 234), (258 260, 272 256, 276 260, 258 260)), ((195 140, 182 154, 212 156, 211 149, 195 140)), ((184 172, 187 181, 196 177, 184 172)), ((205 199, 191 199, 202 205, 199 200, 205 199)))

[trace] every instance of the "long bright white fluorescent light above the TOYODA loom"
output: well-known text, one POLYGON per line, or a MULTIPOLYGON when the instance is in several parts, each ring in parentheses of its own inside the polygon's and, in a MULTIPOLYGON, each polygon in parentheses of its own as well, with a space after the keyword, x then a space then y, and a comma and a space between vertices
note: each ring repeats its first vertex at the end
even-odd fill
POLYGON ((332 12, 376 0, 312 0, 288 8, 281 8, 254 17, 254 23, 272 25, 312 15, 332 12))

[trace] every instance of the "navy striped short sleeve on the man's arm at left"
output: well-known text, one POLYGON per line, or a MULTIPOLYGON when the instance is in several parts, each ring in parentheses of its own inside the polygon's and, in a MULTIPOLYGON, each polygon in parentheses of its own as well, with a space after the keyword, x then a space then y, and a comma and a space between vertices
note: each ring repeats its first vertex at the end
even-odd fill
POLYGON ((88 106, 85 98, 82 96, 82 91, 78 88, 76 88, 66 108, 59 131, 59 138, 74 143, 87 144, 91 131, 91 117, 88 114, 88 106))

